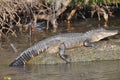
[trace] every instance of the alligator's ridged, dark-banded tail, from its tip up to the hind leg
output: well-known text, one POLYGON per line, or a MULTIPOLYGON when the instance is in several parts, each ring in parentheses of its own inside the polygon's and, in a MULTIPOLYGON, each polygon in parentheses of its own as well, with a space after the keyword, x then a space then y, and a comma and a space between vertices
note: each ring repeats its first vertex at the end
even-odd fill
MULTIPOLYGON (((60 41, 48 41, 47 39, 44 41, 40 41, 38 44, 28 48, 24 52, 22 52, 9 66, 24 66, 32 57, 39 55, 39 53, 47 50, 51 45, 54 46, 58 44, 60 41)), ((60 44, 60 43, 59 43, 60 44)))

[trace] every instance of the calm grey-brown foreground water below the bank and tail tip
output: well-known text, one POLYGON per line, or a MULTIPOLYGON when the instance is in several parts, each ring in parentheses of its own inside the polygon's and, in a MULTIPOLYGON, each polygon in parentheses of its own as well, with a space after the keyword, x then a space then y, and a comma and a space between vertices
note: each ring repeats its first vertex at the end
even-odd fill
POLYGON ((120 80, 120 61, 0 66, 0 74, 1 79, 9 76, 12 80, 120 80))

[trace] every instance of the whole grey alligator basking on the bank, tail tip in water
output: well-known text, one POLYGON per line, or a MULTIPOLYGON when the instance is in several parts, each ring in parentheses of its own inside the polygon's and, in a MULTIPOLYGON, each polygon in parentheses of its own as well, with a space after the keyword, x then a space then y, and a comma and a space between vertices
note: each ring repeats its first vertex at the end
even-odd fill
POLYGON ((118 30, 99 28, 85 33, 64 33, 55 35, 41 40, 37 44, 23 51, 11 64, 9 64, 9 66, 24 66, 32 57, 35 57, 48 49, 54 49, 55 52, 59 52, 60 57, 69 63, 71 58, 65 54, 66 49, 79 46, 96 47, 93 42, 100 41, 101 39, 116 34, 118 34, 118 30))

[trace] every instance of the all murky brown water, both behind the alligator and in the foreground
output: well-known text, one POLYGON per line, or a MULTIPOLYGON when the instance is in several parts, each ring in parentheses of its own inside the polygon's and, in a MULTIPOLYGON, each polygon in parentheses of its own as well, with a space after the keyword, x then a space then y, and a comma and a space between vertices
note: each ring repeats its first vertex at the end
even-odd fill
MULTIPOLYGON (((120 19, 111 19, 110 29, 120 30, 120 19)), ((20 52, 51 35, 65 32, 85 32, 89 29, 102 26, 102 22, 88 20, 73 22, 73 24, 60 24, 59 31, 34 32, 29 35, 19 34, 10 42, 0 43, 0 80, 10 77, 12 80, 120 80, 120 61, 94 61, 57 65, 27 65, 25 67, 9 67, 8 64, 19 55, 20 52), (13 43, 18 52, 15 53, 10 46, 13 43)), ((109 29, 108 28, 108 29, 109 29)))

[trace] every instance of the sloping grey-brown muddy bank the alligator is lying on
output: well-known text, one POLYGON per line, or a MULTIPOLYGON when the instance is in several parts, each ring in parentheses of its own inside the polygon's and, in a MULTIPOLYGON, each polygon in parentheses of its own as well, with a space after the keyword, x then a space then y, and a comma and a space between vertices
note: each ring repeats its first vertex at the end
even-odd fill
MULTIPOLYGON (((120 40, 110 39, 96 43, 97 48, 79 47, 66 50, 66 54, 71 57, 71 62, 117 60, 120 59, 120 40)), ((65 63, 59 54, 41 53, 30 60, 29 64, 57 64, 65 63)))

